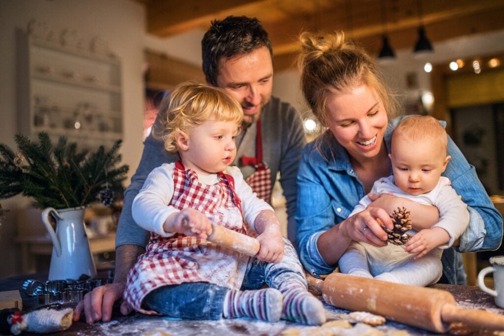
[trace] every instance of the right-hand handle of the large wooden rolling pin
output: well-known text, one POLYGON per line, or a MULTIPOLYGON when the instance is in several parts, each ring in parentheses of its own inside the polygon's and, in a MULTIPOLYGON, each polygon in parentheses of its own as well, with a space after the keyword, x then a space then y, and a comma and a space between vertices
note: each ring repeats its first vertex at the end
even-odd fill
POLYGON ((453 304, 446 304, 441 310, 444 322, 462 322, 464 324, 495 330, 504 330, 504 316, 484 310, 459 308, 453 304))

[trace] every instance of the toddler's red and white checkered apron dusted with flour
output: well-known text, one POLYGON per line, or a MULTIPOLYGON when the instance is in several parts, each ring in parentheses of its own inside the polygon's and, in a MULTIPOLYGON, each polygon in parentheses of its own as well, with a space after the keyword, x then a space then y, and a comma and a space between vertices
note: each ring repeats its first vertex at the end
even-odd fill
MULTIPOLYGON (((180 162, 173 170, 174 193, 170 201, 176 209, 192 208, 210 221, 246 234, 241 214, 241 200, 234 192, 232 176, 219 173, 219 182, 206 185, 198 175, 185 170, 180 162)), ((142 254, 128 275, 124 299, 137 311, 144 297, 156 288, 186 282, 209 282, 239 289, 248 256, 225 249, 204 239, 174 234, 162 237, 151 233, 146 253, 142 254)))

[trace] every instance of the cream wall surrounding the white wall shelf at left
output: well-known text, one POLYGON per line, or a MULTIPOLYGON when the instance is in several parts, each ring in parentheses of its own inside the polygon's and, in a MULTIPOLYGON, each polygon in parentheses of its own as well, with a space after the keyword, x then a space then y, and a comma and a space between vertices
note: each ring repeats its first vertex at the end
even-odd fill
MULTIPOLYGON (((130 176, 142 154, 144 83, 142 63, 145 38, 145 9, 133 0, 4 0, 0 2, 0 143, 15 148, 18 131, 16 113, 16 40, 17 28, 26 31, 30 20, 46 22, 59 34, 76 29, 84 41, 99 36, 108 42, 112 52, 122 61, 123 162, 130 165, 130 176)), ((58 36, 58 35, 57 35, 58 36)), ((13 275, 19 258, 15 254, 14 210, 27 205, 26 199, 15 197, 1 201, 11 209, 0 225, 0 279, 13 275)))

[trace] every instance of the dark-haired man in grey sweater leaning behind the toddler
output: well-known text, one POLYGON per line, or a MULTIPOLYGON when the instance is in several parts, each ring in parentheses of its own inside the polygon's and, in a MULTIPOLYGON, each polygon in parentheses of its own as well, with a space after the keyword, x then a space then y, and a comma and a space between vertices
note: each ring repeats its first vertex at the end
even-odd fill
MULTIPOLYGON (((270 202, 277 172, 287 200, 289 239, 294 241, 296 224, 296 176, 302 148, 306 144, 298 112, 272 97, 273 51, 268 33, 257 19, 227 17, 215 20, 202 40, 203 72, 210 85, 221 87, 238 100, 243 109, 242 131, 236 138, 237 153, 232 165, 243 173, 259 197, 270 202)), ((109 321, 112 305, 122 297, 130 268, 145 252, 149 232, 133 220, 131 206, 145 178, 155 167, 174 162, 161 143, 150 135, 144 143, 139 167, 124 193, 116 238, 114 283, 86 294, 75 309, 74 320, 82 311, 86 321, 109 321)), ((131 308, 125 302, 122 314, 131 308)))

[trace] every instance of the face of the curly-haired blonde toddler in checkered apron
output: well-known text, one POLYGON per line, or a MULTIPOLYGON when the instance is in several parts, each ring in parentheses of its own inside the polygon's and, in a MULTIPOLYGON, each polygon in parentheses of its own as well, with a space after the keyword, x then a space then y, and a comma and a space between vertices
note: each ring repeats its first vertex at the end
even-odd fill
POLYGON ((187 149, 180 153, 185 168, 198 174, 221 172, 236 156, 234 138, 238 125, 228 121, 207 120, 188 131, 187 149))

